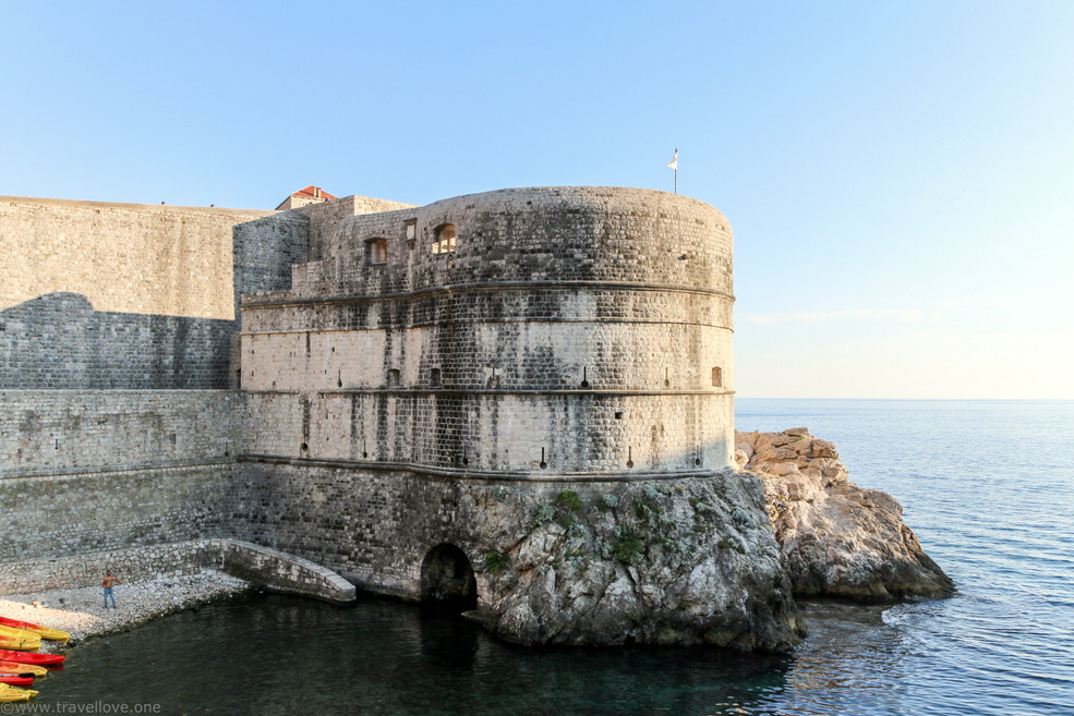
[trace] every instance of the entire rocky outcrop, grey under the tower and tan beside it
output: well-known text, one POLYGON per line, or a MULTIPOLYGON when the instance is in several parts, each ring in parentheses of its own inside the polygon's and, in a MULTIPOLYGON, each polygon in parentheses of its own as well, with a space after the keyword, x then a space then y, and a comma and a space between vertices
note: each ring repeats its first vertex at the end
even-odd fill
POLYGON ((804 633, 794 594, 953 593, 898 502, 848 482, 834 445, 795 428, 739 433, 737 448, 737 474, 468 485, 471 618, 520 644, 782 651, 804 633))

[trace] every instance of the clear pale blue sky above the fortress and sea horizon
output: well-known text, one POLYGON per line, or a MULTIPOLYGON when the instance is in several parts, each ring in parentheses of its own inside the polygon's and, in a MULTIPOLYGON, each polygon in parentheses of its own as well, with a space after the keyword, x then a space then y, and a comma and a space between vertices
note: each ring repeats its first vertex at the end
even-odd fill
POLYGON ((11 2, 0 194, 678 191, 744 398, 1074 399, 1074 3, 11 2))

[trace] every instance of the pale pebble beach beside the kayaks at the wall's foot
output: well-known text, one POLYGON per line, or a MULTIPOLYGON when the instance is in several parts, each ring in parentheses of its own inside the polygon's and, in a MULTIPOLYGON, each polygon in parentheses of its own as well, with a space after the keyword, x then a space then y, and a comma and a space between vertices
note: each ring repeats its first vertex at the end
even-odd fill
POLYGON ((62 629, 71 641, 41 641, 41 652, 62 652, 87 639, 152 621, 173 611, 250 591, 252 585, 220 572, 126 582, 116 587, 117 608, 105 609, 101 587, 53 590, 0 597, 0 616, 62 629))

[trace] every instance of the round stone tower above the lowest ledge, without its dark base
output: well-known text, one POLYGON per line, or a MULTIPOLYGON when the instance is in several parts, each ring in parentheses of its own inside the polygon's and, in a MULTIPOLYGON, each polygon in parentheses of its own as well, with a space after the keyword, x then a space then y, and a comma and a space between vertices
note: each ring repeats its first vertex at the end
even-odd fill
POLYGON ((243 304, 243 387, 304 401, 295 457, 520 480, 732 465, 732 232, 713 207, 509 189, 327 235, 291 291, 243 304))

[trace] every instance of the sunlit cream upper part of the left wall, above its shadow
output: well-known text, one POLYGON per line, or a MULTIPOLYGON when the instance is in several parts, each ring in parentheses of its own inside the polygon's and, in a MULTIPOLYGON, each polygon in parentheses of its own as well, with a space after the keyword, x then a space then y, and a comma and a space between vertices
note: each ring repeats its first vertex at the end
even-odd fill
POLYGON ((233 320, 232 227, 271 214, 0 196, 0 311, 63 292, 95 311, 233 320))

